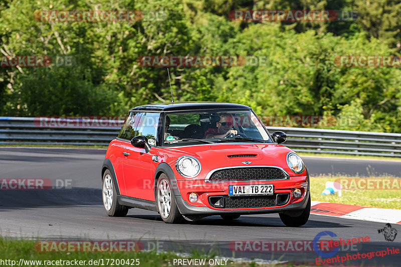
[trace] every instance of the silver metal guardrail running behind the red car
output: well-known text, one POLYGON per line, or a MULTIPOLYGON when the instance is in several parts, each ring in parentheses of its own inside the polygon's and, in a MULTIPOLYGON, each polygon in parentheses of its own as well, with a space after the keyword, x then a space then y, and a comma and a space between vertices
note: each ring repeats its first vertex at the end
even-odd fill
MULTIPOLYGON (((0 117, 0 144, 108 145, 123 123, 109 119, 60 121, 63 122, 59 119, 41 124, 39 117, 0 117)), ((273 126, 267 129, 271 133, 287 133, 284 145, 299 152, 401 157, 401 133, 273 126)))

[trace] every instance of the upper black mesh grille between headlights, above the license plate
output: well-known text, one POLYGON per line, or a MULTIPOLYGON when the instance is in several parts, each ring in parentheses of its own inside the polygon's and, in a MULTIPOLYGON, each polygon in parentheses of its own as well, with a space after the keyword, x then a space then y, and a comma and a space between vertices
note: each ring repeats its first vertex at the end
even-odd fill
POLYGON ((218 169, 209 177, 209 181, 247 181, 285 179, 284 172, 276 167, 238 167, 218 169))

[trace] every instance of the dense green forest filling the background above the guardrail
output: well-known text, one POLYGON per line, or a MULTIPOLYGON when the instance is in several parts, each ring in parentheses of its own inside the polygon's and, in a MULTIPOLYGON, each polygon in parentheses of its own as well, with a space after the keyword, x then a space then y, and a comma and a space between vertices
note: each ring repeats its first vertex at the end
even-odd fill
POLYGON ((141 56, 236 55, 266 60, 171 66, 175 100, 243 103, 261 116, 352 117, 353 123, 331 127, 401 132, 401 67, 335 60, 399 55, 399 13, 399 0, 3 0, 0 55, 49 55, 53 63, 2 65, 0 115, 124 115, 171 99, 166 67, 141 66, 141 56), (140 10, 145 16, 41 21, 38 10, 140 10), (233 10, 345 10, 357 17, 234 20, 233 10), (66 56, 71 64, 55 63, 66 56))

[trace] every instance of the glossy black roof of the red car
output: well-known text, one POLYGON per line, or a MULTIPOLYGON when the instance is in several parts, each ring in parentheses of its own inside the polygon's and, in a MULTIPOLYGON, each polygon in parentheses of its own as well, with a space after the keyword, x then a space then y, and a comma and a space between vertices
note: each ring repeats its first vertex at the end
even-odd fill
POLYGON ((179 111, 197 109, 251 109, 251 107, 243 104, 221 102, 164 102, 136 106, 130 111, 179 111))

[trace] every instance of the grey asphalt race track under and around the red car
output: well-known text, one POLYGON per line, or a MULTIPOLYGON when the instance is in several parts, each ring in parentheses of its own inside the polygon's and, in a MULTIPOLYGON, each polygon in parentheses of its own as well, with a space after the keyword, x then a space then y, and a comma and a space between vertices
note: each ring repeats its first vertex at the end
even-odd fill
MULTIPOLYGON (((311 215, 303 227, 284 227, 277 214, 249 215, 233 221, 219 216, 173 225, 164 223, 156 212, 130 209, 126 217, 106 215, 101 199, 100 167, 105 149, 0 148, 2 179, 46 178, 53 182, 71 180, 72 188, 48 190, 0 190, 0 231, 8 237, 69 240, 142 240, 145 249, 157 240, 160 249, 189 252, 217 250, 230 257, 315 262, 313 247, 304 251, 237 251, 235 240, 313 240, 321 231, 332 231, 342 239, 369 236, 369 242, 353 248, 342 247, 336 254, 366 253, 401 249, 401 225, 394 241, 385 241, 377 229, 384 223, 311 215), (347 250, 348 249, 348 250, 347 250), (345 250, 345 251, 341 251, 345 250)), ((325 157, 303 157, 311 174, 392 174, 401 177, 400 161, 325 157)), ((312 197, 313 199, 313 197, 312 197)), ((324 238, 326 239, 326 238, 324 238)), ((243 246, 244 248, 245 246, 243 246)), ((254 248, 258 249, 258 247, 254 248)), ((398 255, 355 259, 352 265, 401 265, 398 255)))

